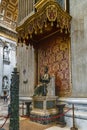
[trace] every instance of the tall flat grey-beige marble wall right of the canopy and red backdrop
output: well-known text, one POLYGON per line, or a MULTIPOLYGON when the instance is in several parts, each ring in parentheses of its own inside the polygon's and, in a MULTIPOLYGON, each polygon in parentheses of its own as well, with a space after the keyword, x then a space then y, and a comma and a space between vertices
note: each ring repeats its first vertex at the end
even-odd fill
POLYGON ((87 97, 87 0, 70 0, 72 96, 87 97))

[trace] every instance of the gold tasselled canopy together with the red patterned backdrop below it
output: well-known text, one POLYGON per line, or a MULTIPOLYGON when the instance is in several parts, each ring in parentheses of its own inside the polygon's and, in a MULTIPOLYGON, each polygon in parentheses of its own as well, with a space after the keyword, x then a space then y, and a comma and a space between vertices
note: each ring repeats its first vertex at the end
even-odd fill
POLYGON ((17 27, 18 43, 37 43, 40 73, 48 66, 50 75, 55 75, 56 95, 70 96, 71 16, 56 0, 39 0, 35 9, 36 12, 17 27))

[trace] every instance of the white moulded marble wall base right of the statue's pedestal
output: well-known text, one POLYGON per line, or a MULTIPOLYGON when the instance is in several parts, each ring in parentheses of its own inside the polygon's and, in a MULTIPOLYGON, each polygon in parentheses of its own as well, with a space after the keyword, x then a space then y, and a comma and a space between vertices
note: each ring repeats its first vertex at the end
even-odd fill
MULTIPOLYGON (((68 108, 72 108, 72 104, 74 104, 75 125, 79 130, 86 130, 87 128, 87 98, 59 98, 59 102, 65 103, 66 107, 68 108)), ((65 122, 67 126, 70 128, 73 125, 72 113, 73 113, 72 110, 70 110, 65 114, 65 122)))

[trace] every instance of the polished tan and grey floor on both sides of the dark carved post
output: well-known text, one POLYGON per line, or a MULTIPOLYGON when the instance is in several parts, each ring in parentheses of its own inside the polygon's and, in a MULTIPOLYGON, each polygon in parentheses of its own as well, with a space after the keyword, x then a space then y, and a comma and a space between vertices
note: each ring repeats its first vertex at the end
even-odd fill
MULTIPOLYGON (((8 114, 8 103, 4 102, 3 99, 0 99, 0 128, 2 124, 5 122, 4 116, 8 114)), ((5 130, 9 130, 9 119, 6 124, 3 126, 5 130)), ((64 127, 61 128, 58 125, 41 125, 38 123, 34 123, 29 121, 29 118, 20 117, 20 130, 70 130, 70 128, 64 127)))

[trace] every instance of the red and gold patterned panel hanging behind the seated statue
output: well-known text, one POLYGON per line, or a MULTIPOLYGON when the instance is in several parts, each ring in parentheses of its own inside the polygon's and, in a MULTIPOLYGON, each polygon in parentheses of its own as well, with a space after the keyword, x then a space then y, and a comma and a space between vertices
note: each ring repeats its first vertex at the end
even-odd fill
POLYGON ((55 75, 56 95, 59 96, 68 96, 71 92, 69 44, 69 39, 63 41, 62 37, 55 35, 38 45, 40 73, 45 65, 49 67, 50 75, 55 75))

